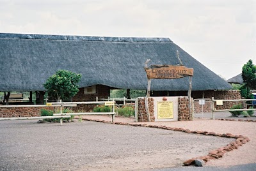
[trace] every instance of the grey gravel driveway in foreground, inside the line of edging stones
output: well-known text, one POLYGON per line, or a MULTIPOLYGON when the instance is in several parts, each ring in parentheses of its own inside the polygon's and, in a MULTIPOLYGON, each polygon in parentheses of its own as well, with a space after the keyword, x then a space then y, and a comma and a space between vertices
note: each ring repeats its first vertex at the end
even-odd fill
POLYGON ((233 139, 91 121, 0 122, 0 170, 150 170, 178 167, 233 139))

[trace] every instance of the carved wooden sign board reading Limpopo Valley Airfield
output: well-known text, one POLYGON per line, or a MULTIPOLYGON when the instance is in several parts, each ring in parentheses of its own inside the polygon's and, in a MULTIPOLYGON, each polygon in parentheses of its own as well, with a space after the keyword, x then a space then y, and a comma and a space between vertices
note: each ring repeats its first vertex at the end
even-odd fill
POLYGON ((150 68, 144 68, 148 79, 152 78, 183 78, 193 76, 193 68, 174 65, 152 65, 150 68))

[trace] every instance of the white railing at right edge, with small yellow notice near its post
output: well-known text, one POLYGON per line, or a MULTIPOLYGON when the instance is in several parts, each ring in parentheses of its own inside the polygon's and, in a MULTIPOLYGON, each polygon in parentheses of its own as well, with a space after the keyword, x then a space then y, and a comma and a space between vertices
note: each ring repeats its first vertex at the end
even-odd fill
POLYGON ((215 102, 217 103, 216 105, 218 105, 218 103, 223 103, 223 101, 256 101, 256 99, 238 99, 238 100, 214 100, 214 98, 212 97, 212 119, 215 119, 214 116, 214 112, 232 112, 232 111, 248 111, 248 110, 256 110, 256 108, 244 108, 244 109, 216 109, 214 108, 215 102))

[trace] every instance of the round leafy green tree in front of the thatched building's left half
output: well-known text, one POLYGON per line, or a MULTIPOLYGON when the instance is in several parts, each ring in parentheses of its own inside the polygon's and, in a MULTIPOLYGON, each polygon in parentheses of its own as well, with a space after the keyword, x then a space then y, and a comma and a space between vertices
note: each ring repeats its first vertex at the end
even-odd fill
POLYGON ((44 87, 48 96, 58 101, 70 99, 79 92, 77 84, 81 77, 81 74, 72 71, 59 70, 46 80, 44 87))

